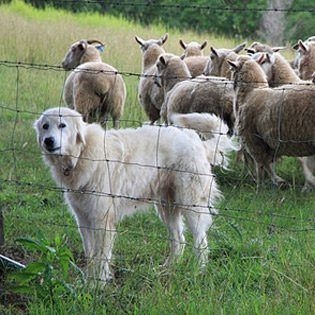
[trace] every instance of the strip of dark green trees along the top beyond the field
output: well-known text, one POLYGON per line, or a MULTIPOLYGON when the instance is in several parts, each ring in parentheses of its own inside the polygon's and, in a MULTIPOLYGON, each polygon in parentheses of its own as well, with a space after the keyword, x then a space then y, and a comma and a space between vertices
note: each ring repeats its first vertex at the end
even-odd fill
POLYGON ((274 45, 307 38, 314 28, 311 0, 25 0, 37 8, 53 6, 72 12, 123 16, 142 25, 161 23, 173 29, 210 32, 227 37, 261 38, 274 45), (176 18, 174 18, 176 17, 176 18))

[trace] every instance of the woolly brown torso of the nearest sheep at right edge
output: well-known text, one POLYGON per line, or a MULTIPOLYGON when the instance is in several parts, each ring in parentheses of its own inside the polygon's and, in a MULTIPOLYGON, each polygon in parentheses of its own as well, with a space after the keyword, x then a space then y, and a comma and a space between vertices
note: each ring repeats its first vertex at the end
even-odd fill
MULTIPOLYGON (((276 156, 315 153, 315 90, 254 91, 240 107, 239 135, 246 143, 257 137, 276 156)), ((253 148, 252 148, 253 149, 253 148)))

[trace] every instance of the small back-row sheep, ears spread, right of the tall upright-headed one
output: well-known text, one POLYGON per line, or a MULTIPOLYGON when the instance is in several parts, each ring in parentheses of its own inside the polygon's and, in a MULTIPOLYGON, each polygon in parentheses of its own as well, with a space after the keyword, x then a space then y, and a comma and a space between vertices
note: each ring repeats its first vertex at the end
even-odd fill
POLYGON ((183 40, 179 40, 184 54, 181 58, 185 61, 192 77, 201 75, 206 67, 209 58, 203 55, 203 49, 207 46, 207 41, 199 44, 195 41, 186 44, 183 40))

